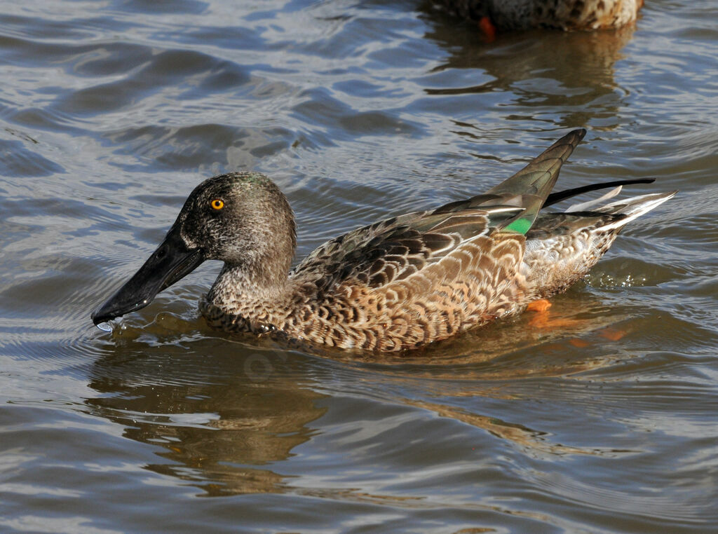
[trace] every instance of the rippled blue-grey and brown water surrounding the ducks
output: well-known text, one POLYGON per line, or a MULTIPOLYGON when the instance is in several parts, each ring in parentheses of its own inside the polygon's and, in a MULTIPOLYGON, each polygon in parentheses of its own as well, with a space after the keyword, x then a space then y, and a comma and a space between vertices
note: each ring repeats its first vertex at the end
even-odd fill
POLYGON ((489 43, 420 1, 1 1, 0 531, 718 530, 717 8, 489 43), (301 258, 581 126, 564 187, 681 192, 547 318, 317 356, 208 329, 208 263, 90 323, 205 177, 274 177, 301 258))

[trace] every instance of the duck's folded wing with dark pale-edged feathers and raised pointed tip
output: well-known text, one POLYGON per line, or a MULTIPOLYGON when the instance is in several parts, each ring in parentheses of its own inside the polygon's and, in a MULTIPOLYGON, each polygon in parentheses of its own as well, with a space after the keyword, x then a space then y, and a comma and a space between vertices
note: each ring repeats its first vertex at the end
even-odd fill
MULTIPOLYGON (((408 278, 467 243, 497 232, 521 235, 523 245, 523 234, 546 202, 561 165, 585 133, 568 133, 521 171, 482 195, 435 210, 392 217, 327 241, 294 268, 291 276, 316 284, 320 292, 346 282, 379 288, 408 278)), ((472 248, 472 255, 476 250, 472 248)), ((521 252, 512 255, 516 256, 512 263, 521 261, 523 246, 516 250, 521 252)), ((451 271, 442 276, 460 276, 451 271)))

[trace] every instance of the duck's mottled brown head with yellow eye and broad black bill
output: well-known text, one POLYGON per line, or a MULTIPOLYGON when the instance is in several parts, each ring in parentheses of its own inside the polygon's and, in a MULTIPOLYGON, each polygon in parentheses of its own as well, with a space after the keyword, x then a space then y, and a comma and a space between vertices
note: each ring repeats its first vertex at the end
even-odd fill
POLYGON ((284 194, 264 174, 233 172, 198 185, 172 228, 129 281, 92 313, 95 324, 136 312, 205 260, 259 286, 286 281, 297 243, 284 194))

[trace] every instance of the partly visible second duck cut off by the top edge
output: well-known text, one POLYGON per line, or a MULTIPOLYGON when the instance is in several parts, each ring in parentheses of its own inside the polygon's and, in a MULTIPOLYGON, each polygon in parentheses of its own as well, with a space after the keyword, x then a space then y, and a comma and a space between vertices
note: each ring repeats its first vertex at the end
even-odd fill
POLYGON ((643 6, 643 0, 437 1, 458 17, 498 29, 620 28, 633 24, 643 6))

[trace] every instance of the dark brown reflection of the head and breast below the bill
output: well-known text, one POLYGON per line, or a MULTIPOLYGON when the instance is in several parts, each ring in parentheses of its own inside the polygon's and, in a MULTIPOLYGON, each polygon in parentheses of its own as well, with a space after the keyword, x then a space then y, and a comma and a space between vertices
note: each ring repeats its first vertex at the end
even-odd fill
POLYGON ((244 363, 261 350, 206 345, 213 354, 204 357, 183 358, 186 351, 167 347, 103 357, 89 384, 100 395, 86 402, 96 415, 122 425, 127 438, 166 449, 159 456, 167 462, 147 469, 187 480, 208 495, 284 491, 284 477, 262 466, 289 458, 310 439, 309 423, 326 411, 316 401, 326 395, 297 380, 296 359, 276 362, 281 367, 257 382, 244 363))

